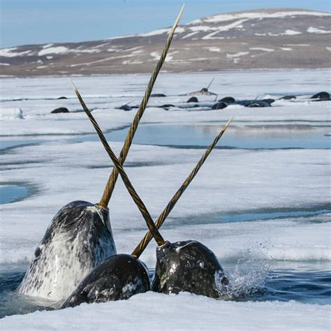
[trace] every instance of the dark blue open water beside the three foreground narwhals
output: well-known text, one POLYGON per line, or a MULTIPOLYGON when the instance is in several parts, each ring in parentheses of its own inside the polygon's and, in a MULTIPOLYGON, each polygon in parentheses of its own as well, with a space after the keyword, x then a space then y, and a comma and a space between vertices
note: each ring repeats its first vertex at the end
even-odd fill
MULTIPOLYGON (((235 301, 290 301, 304 303, 331 304, 331 265, 295 265, 295 269, 275 269, 263 274, 263 279, 233 279, 237 295, 235 301), (258 285, 257 285, 258 284, 258 285)), ((16 288, 24 277, 26 266, 3 265, 0 267, 0 318, 13 314, 28 314, 36 310, 57 309, 61 302, 36 300, 16 293, 16 288)), ((225 266, 229 278, 237 277, 235 265, 225 266)), ((152 279, 154 270, 149 270, 152 279)), ((260 275, 256 275, 260 277, 260 275)), ((231 282, 230 282, 231 284, 231 282)))

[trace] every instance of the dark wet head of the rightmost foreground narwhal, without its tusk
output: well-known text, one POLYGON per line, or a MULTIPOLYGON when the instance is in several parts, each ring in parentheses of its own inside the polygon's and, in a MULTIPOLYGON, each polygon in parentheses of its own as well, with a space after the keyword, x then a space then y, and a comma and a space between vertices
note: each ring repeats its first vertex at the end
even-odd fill
POLYGON ((228 290, 228 279, 214 253, 200 242, 165 242, 156 249, 152 290, 219 298, 228 290))

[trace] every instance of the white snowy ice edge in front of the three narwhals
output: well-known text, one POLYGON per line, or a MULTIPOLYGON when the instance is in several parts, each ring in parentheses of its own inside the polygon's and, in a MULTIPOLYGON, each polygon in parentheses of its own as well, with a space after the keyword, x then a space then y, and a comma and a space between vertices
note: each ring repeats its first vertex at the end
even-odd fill
POLYGON ((225 302, 182 293, 144 293, 1 320, 2 330, 328 330, 330 306, 225 302), (263 317, 262 317, 263 316, 263 317), (134 325, 134 326, 133 326, 134 325))

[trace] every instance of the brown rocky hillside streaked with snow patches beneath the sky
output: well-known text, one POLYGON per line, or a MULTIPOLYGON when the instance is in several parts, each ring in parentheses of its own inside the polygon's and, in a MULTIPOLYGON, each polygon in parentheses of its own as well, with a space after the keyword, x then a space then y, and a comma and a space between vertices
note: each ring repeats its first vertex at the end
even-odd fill
MULTIPOLYGON (((177 28, 163 70, 330 68, 330 17, 299 9, 204 17, 177 28)), ((149 73, 167 33, 1 49, 1 75, 149 73)))

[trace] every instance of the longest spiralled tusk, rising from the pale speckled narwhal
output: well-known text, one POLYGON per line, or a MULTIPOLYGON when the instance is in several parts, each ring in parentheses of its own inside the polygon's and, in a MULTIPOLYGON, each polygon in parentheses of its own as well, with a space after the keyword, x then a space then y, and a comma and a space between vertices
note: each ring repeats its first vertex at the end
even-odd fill
MULTIPOLYGON (((149 96, 152 93, 152 89, 153 89, 154 83, 156 81, 156 78, 159 74, 159 71, 161 70, 163 62, 165 61, 165 57, 166 57, 166 55, 168 53, 168 50, 170 48, 172 37, 175 34, 175 29, 177 28, 179 20, 182 17, 183 11, 184 11, 184 5, 182 6, 182 8, 179 12, 179 15, 177 16, 177 19, 175 20, 175 23, 172 25, 172 28, 170 29, 169 36, 168 36, 167 42, 165 43, 165 47, 163 49, 163 52, 162 52, 161 57, 159 59, 159 62, 156 64, 154 72, 152 73, 152 77, 150 78, 149 83, 147 85, 145 95, 142 98, 142 101, 140 103, 139 110, 138 110, 137 114, 135 115, 135 118, 133 119, 133 123, 131 124, 131 127, 128 131, 128 134, 126 135, 124 146, 122 148, 121 153, 119 154, 119 163, 121 165, 124 164, 126 156, 128 155, 128 149, 130 149, 130 147, 131 147, 131 144, 132 144, 132 141, 133 141, 133 136, 135 135, 135 131, 138 128, 138 124, 140 122, 140 119, 141 119, 142 115, 145 112, 145 108, 147 106, 149 96)), ((101 201, 100 201, 100 205, 102 207, 107 207, 108 206, 108 203, 109 203, 110 198, 112 196, 112 192, 114 191, 114 188, 115 188, 115 184, 116 184, 118 175, 119 175, 119 172, 118 172, 117 168, 115 167, 112 170, 112 173, 111 173, 111 175, 108 179, 108 182, 105 186, 105 189, 103 191, 103 196, 102 196, 101 201)))

